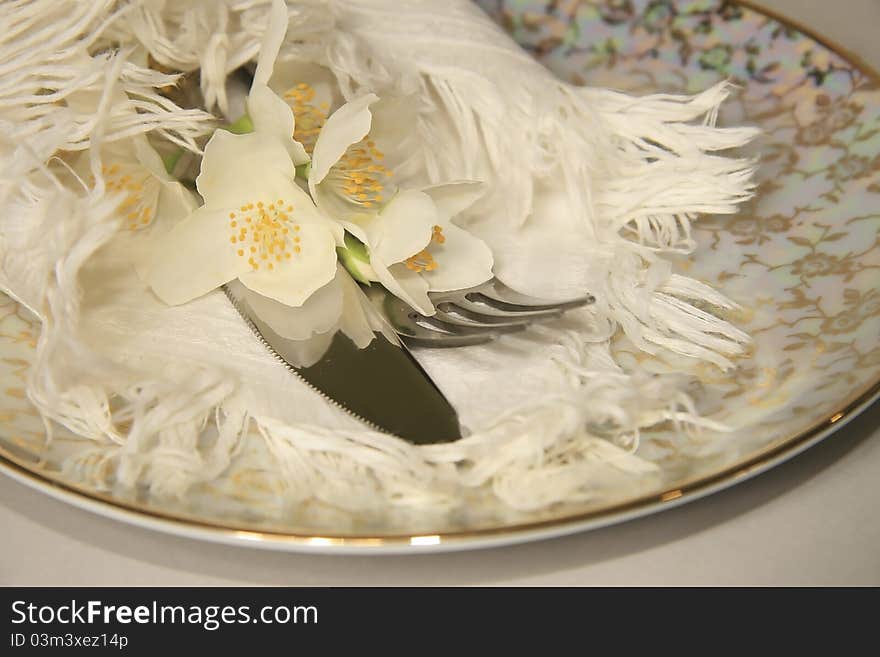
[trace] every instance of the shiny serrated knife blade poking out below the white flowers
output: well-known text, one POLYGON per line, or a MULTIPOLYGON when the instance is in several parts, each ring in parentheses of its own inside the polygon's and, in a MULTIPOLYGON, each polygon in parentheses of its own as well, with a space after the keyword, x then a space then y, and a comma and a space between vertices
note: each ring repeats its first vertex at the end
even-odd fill
POLYGON ((229 284, 223 291, 275 358, 350 415, 418 445, 461 438, 455 409, 393 331, 375 331, 363 349, 342 331, 332 337, 316 336, 313 346, 322 355, 317 360, 304 359, 307 341, 278 335, 253 312, 246 296, 229 284))

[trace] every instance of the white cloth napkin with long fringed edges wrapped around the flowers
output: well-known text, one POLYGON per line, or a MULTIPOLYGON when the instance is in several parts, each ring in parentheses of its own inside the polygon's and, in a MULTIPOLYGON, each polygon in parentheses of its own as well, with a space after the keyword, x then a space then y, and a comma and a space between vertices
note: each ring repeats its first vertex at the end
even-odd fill
POLYGON ((329 67, 347 97, 413 95, 414 179, 489 184, 468 219, 500 278, 598 302, 489 346, 417 353, 465 439, 415 447, 364 428, 274 361, 222 293, 158 301, 120 256, 132 238, 116 203, 59 157, 148 132, 195 150, 210 116, 174 106, 157 91, 173 79, 134 62, 146 51, 201 69, 205 98, 227 110, 226 74, 256 56, 267 3, 4 3, 0 286, 43 323, 31 400, 105 452, 93 484, 184 495, 221 476, 242 440, 264 440, 291 499, 417 506, 483 487, 538 509, 655 473, 636 451, 644 427, 714 426, 678 377, 624 372, 610 338, 622 329, 646 352, 719 367, 748 341, 703 310, 730 302, 663 260, 695 248, 697 214, 733 212, 752 192, 751 164, 715 154, 754 135, 714 126, 726 85, 693 98, 575 88, 464 0, 288 5, 282 58, 329 67), (68 102, 84 92, 101 94, 96 115, 68 102))

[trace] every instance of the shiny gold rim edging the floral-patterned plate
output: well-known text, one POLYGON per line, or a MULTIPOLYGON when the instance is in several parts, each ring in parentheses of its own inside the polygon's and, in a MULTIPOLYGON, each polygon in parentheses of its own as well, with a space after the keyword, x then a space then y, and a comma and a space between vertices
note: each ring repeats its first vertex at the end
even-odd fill
MULTIPOLYGON (((747 9, 761 13, 780 24, 794 28, 849 61, 855 68, 858 68, 880 85, 880 71, 874 69, 859 56, 851 53, 840 44, 818 34, 812 28, 799 23, 797 20, 783 16, 772 9, 763 7, 755 0, 734 0, 734 2, 747 9)), ((266 529, 254 530, 246 527, 237 527, 234 524, 214 523, 183 513, 166 514, 154 508, 124 502, 111 495, 72 485, 44 472, 35 472, 27 464, 2 447, 0 447, 0 469, 5 470, 13 478, 24 480, 53 497, 63 499, 67 495, 72 495, 81 506, 92 511, 98 511, 98 508, 100 508, 104 512, 110 512, 117 517, 140 521, 141 524, 147 524, 156 529, 166 529, 176 531, 176 533, 190 533, 201 538, 220 542, 239 543, 242 545, 250 544, 267 548, 273 546, 312 549, 331 547, 353 548, 367 553, 371 549, 375 550, 376 548, 393 549, 430 546, 434 549, 442 549, 443 546, 466 547, 465 544, 469 543, 473 543, 473 547, 480 547, 481 544, 488 547, 487 544, 515 542, 517 537, 524 535, 562 536, 587 529, 595 529, 697 500, 705 495, 760 474, 811 447, 827 437, 833 430, 853 419, 878 398, 880 398, 880 379, 850 396, 841 405, 839 410, 806 430, 784 438, 774 446, 761 450, 734 466, 710 475, 696 477, 659 493, 644 495, 602 509, 562 515, 557 518, 480 529, 448 531, 430 535, 375 534, 352 536, 333 535, 331 533, 322 535, 297 534, 266 529)))

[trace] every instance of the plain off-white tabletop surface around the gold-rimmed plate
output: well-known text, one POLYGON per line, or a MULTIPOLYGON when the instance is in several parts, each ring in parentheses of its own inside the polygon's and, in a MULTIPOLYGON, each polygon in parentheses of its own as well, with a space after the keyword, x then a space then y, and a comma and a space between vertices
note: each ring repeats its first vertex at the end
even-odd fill
MULTIPOLYGON (((763 0, 880 68, 880 0, 763 0)), ((704 500, 517 547, 331 557, 200 543, 80 511, 0 475, 2 585, 880 585, 880 404, 704 500)))

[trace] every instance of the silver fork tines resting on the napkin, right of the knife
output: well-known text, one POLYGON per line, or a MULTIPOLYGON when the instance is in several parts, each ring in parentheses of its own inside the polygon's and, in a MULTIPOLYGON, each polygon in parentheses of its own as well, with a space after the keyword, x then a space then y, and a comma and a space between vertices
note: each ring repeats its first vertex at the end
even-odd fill
POLYGON ((570 301, 545 301, 493 278, 466 290, 431 294, 437 312, 428 317, 378 285, 365 291, 403 341, 414 347, 482 344, 596 300, 588 294, 570 301))

